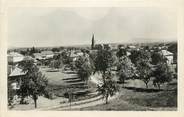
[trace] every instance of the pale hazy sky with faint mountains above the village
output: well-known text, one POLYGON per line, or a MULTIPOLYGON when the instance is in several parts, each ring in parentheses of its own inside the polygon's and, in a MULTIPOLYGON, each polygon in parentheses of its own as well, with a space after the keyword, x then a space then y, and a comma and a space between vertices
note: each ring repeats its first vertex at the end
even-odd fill
POLYGON ((8 47, 177 40, 177 13, 154 7, 18 7, 8 11, 8 47))

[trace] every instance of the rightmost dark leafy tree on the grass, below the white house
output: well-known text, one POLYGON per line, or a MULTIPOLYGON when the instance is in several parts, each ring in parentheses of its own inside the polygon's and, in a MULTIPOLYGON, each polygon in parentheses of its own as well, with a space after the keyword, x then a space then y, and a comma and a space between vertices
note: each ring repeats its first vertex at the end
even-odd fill
POLYGON ((153 85, 160 89, 160 85, 169 82, 172 79, 172 72, 169 71, 167 63, 160 63, 156 66, 155 71, 153 72, 154 80, 153 85))

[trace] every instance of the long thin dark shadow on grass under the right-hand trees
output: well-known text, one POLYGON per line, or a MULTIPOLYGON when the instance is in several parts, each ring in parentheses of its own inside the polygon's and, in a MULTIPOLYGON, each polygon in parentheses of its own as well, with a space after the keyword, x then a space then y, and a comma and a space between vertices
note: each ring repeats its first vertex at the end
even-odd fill
POLYGON ((128 89, 128 90, 133 90, 135 92, 146 92, 146 93, 163 91, 162 89, 146 89, 146 88, 137 88, 137 87, 123 87, 123 88, 128 89))

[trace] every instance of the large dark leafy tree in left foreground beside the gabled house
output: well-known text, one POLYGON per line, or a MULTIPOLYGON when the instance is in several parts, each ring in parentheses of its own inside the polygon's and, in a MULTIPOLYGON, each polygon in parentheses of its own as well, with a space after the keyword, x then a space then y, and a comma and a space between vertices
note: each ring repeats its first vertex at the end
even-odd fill
POLYGON ((46 93, 48 80, 42 75, 33 60, 24 60, 20 62, 19 66, 23 69, 23 72, 26 72, 26 75, 22 78, 18 95, 22 98, 21 102, 25 97, 31 96, 34 100, 35 108, 37 108, 38 96, 46 93))

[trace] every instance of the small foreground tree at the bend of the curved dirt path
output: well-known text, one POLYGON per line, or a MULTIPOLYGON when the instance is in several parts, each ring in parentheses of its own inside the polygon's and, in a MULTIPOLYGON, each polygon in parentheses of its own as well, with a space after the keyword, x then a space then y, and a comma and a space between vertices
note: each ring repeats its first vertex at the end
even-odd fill
POLYGON ((104 82, 98 85, 97 91, 103 95, 103 99, 105 99, 107 104, 109 97, 115 95, 115 93, 119 91, 119 87, 117 83, 112 80, 112 73, 110 71, 103 75, 104 82))

